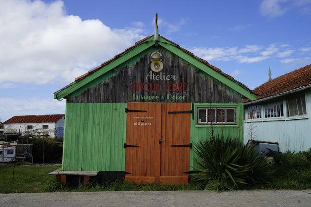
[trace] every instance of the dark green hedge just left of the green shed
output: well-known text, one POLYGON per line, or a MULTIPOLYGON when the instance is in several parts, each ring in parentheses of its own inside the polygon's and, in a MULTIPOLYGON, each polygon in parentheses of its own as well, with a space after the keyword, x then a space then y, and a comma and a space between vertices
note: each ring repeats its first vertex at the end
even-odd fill
POLYGON ((43 148, 44 163, 61 162, 63 146, 57 144, 55 139, 33 138, 32 143, 34 163, 43 163, 43 148))

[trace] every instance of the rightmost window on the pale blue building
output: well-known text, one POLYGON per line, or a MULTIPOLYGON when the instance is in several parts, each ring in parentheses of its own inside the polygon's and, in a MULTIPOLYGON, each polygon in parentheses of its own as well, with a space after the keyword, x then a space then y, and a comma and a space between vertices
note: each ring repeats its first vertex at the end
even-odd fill
POLYGON ((307 114, 305 94, 286 98, 287 117, 307 114))

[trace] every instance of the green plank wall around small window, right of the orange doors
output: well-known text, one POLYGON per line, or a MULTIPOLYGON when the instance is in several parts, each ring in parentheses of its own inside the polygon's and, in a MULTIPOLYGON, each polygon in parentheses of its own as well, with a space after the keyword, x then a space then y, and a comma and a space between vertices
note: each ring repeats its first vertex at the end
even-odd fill
MULTIPOLYGON (((213 125, 214 135, 224 135, 224 137, 239 138, 242 142, 243 140, 243 104, 194 104, 194 119, 191 119, 190 128, 190 142, 198 143, 200 140, 209 138, 211 134, 211 125, 197 125, 197 107, 236 107, 236 124, 235 125, 213 125)), ((193 167, 198 167, 194 159, 197 156, 194 153, 194 147, 190 149, 190 170, 193 171, 193 167)))

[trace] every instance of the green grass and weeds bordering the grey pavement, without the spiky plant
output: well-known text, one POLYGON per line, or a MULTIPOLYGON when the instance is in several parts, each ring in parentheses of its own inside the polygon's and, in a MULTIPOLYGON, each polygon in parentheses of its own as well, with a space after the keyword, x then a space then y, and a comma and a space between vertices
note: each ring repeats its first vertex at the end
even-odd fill
MULTIPOLYGON (((273 179, 270 184, 256 184, 244 189, 311 189, 311 150, 308 152, 287 152, 274 157, 273 179)), ((217 182, 208 186, 198 182, 187 185, 134 185, 125 181, 99 184, 91 181, 87 187, 69 188, 60 184, 54 175, 48 175, 60 166, 15 165, 14 179, 12 164, 0 164, 0 193, 35 192, 78 192, 78 191, 175 191, 216 190, 217 182)))

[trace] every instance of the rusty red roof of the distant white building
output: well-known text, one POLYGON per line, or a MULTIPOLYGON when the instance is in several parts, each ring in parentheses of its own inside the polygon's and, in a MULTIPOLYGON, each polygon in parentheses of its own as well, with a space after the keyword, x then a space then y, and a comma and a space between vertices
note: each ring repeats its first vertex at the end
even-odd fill
POLYGON ((12 118, 3 122, 3 124, 53 123, 53 122, 57 122, 64 116, 65 114, 13 116, 12 118))

